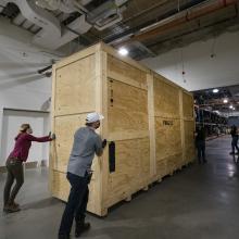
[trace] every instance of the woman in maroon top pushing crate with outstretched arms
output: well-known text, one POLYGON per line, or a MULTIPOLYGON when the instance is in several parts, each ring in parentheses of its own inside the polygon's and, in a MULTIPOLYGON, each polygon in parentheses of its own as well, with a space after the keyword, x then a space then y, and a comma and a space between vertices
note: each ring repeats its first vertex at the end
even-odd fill
POLYGON ((54 134, 52 136, 49 134, 49 136, 40 138, 37 138, 32 134, 33 129, 29 124, 23 124, 21 126, 20 133, 15 137, 14 149, 10 153, 5 163, 8 175, 4 187, 3 211, 7 213, 13 213, 21 210, 20 205, 15 203, 14 200, 24 183, 23 163, 27 161, 32 141, 47 142, 55 139, 54 134), (16 180, 16 184, 12 189, 14 180, 16 180))

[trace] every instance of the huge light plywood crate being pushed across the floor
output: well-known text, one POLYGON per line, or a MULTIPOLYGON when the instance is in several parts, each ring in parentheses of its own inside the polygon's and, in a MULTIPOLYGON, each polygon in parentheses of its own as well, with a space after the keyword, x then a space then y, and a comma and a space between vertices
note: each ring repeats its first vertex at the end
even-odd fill
POLYGON ((67 200, 73 136, 89 112, 104 115, 98 133, 109 141, 93 160, 91 213, 105 215, 113 204, 193 160, 192 96, 139 63, 99 43, 56 63, 52 79, 53 197, 67 200), (110 142, 115 158, 109 155, 110 142))

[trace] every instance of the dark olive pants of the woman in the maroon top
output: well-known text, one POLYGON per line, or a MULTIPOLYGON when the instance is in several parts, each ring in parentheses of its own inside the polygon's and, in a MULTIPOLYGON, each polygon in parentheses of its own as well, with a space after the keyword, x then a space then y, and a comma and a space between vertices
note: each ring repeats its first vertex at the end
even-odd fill
POLYGON ((4 187, 4 205, 14 202, 14 199, 24 183, 23 163, 20 160, 9 159, 5 166, 8 175, 4 187), (16 184, 12 189, 14 180, 16 180, 16 184))

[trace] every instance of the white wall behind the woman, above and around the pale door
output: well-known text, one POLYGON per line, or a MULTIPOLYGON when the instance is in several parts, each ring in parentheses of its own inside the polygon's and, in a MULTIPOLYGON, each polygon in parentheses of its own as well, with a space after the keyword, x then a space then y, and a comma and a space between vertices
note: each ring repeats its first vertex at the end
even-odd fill
MULTIPOLYGON (((3 108, 50 110, 51 78, 39 75, 37 70, 51 64, 52 55, 27 45, 27 40, 22 42, 1 35, 1 30, 2 28, 0 29, 0 135, 2 136, 3 108)), ((16 125, 13 128, 16 128, 16 125)), ((48 128, 49 125, 45 126, 45 134, 48 134, 48 128)), ((2 143, 0 151, 2 152, 2 143)), ((47 158, 47 147, 42 155, 47 158)), ((5 159, 0 159, 0 166, 4 161, 5 159)))

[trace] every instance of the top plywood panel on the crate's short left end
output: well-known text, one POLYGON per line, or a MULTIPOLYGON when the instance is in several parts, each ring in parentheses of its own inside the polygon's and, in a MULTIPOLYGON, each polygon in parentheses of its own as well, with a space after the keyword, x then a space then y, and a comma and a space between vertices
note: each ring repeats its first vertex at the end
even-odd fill
POLYGON ((93 54, 56 70, 54 115, 95 111, 97 101, 95 64, 93 54))

